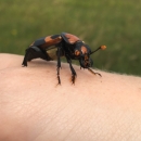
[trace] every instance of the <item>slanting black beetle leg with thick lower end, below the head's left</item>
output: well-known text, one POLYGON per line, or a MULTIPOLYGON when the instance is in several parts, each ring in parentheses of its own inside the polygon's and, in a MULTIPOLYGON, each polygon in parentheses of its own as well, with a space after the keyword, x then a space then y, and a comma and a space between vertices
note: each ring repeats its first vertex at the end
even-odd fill
POLYGON ((75 69, 74 69, 74 67, 72 65, 72 60, 68 56, 66 56, 66 59, 67 59, 67 63, 69 64, 70 72, 72 72, 72 84, 75 84, 76 76, 77 76, 76 72, 75 72, 75 69))

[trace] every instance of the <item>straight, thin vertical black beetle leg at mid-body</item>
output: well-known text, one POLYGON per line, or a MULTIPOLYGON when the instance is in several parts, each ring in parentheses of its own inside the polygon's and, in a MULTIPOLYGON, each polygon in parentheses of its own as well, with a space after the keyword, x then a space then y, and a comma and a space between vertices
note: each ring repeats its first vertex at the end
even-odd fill
POLYGON ((57 55, 57 67, 56 67, 57 74, 56 74, 56 75, 57 75, 59 85, 61 85, 61 78, 60 78, 60 68, 61 68, 61 47, 57 47, 56 55, 57 55))

